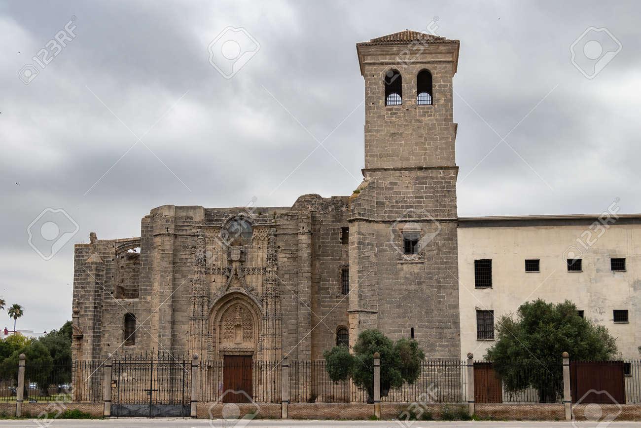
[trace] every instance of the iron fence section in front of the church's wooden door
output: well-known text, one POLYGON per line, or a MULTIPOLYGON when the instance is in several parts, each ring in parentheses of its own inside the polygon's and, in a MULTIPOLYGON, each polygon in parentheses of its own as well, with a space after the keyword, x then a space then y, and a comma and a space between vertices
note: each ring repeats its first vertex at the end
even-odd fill
POLYGON ((200 401, 226 402, 230 398, 226 397, 230 391, 243 391, 255 402, 281 402, 280 361, 253 361, 247 366, 234 362, 204 360, 199 370, 200 401), (225 370, 228 371, 227 378, 224 377, 225 370), (239 384, 237 381, 242 383, 239 384))

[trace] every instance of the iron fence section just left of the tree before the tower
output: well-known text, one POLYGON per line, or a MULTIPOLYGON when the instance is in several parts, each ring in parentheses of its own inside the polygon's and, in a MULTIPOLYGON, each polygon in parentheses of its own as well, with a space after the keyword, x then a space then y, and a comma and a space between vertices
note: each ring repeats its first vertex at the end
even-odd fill
POLYGON ((329 379, 325 360, 292 361, 289 391, 292 403, 367 402, 367 391, 353 382, 329 379))

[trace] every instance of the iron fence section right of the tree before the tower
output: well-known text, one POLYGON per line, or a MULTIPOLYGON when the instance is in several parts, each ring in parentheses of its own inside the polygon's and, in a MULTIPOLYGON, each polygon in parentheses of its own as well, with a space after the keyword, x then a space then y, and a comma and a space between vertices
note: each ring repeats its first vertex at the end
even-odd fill
POLYGON ((465 398, 465 371, 467 363, 458 360, 424 360, 420 375, 412 384, 389 391, 383 402, 436 402, 462 403, 465 398))

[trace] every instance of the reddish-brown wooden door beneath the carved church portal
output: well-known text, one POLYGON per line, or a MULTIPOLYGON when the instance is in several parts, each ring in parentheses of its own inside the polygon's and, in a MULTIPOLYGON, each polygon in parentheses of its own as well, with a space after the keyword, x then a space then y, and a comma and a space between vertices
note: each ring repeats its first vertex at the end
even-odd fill
POLYGON ((224 355, 222 384, 224 403, 249 403, 253 398, 251 355, 224 355))

